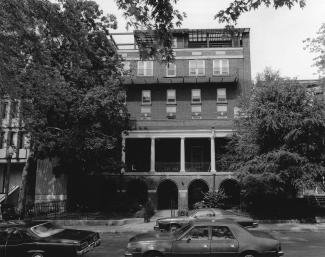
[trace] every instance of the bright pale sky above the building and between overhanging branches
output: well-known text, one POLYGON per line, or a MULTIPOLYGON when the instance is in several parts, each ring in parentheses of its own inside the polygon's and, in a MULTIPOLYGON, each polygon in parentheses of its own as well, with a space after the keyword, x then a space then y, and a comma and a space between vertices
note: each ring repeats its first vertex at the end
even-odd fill
MULTIPOLYGON (((118 29, 111 32, 126 32, 126 21, 114 0, 95 0, 104 13, 117 17, 118 29)), ((184 11, 187 18, 181 28, 222 28, 214 15, 224 9, 230 0, 179 0, 176 8, 184 11)), ((279 70, 282 76, 297 79, 317 79, 317 68, 313 67, 314 54, 304 50, 308 37, 315 37, 325 23, 325 0, 306 0, 301 9, 260 7, 243 14, 236 27, 250 28, 252 78, 265 67, 279 70)), ((131 31, 129 31, 131 32, 131 31)))

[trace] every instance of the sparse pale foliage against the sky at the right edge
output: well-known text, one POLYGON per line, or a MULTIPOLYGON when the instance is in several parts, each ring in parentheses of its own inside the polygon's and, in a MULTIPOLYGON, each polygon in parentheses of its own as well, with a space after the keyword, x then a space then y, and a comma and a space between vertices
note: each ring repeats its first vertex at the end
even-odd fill
POLYGON ((321 75, 325 75, 325 23, 322 24, 315 38, 307 38, 305 49, 317 54, 314 58, 314 66, 318 68, 321 75))

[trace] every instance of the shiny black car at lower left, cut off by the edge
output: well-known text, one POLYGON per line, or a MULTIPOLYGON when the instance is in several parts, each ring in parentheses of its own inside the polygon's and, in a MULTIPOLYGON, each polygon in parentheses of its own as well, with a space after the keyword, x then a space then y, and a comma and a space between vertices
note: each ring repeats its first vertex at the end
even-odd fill
POLYGON ((98 233, 64 229, 51 222, 0 223, 1 257, 73 257, 98 245, 98 233))

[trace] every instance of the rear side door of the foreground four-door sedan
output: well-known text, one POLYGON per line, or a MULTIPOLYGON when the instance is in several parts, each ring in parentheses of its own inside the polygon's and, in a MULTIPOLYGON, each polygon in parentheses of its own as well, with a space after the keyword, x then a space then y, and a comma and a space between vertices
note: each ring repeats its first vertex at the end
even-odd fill
POLYGON ((239 243, 227 226, 212 226, 210 257, 239 255, 239 243))

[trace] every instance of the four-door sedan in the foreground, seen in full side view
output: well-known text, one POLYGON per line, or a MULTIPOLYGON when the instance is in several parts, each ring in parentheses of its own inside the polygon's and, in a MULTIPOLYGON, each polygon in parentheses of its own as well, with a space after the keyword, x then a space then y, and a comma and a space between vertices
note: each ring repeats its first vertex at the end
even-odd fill
POLYGON ((247 230, 230 220, 195 221, 175 232, 132 237, 125 257, 279 257, 281 244, 270 234, 247 230))

